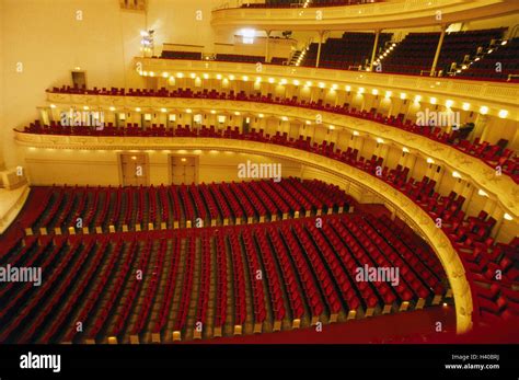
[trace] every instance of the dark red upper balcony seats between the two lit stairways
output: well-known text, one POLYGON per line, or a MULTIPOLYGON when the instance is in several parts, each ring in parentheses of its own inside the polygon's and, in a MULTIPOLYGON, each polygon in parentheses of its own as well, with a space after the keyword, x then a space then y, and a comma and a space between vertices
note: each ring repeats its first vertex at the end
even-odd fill
MULTIPOLYGON (((503 38, 505 28, 447 33, 436 71, 446 76, 452 62, 459 65, 487 48, 494 39, 503 38)), ((410 33, 382 59, 382 72, 427 74, 432 67, 440 33, 410 33)))

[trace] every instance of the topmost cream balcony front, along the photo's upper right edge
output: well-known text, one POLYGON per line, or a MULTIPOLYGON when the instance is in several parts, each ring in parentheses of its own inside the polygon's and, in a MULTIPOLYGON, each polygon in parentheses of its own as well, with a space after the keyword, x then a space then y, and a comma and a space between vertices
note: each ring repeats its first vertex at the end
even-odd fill
POLYGON ((408 28, 511 14, 514 0, 400 0, 346 7, 245 8, 228 1, 212 11, 211 25, 265 31, 366 31, 408 28))

